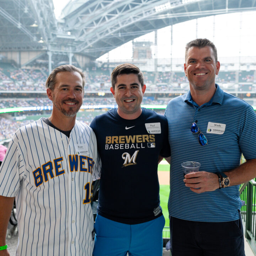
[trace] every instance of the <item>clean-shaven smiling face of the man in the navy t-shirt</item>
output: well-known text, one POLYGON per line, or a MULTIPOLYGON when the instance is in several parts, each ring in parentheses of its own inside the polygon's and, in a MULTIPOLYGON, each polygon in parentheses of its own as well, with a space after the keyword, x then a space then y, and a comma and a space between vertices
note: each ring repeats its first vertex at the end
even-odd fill
POLYGON ((124 119, 135 119, 140 116, 142 110, 140 104, 146 86, 140 85, 137 74, 121 74, 117 76, 116 84, 111 87, 118 110, 117 113, 124 119))

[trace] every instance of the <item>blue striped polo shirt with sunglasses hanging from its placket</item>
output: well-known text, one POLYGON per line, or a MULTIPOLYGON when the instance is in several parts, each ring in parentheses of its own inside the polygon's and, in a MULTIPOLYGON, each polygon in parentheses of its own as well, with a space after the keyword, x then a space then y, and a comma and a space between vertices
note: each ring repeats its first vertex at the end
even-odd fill
POLYGON ((183 182, 181 163, 184 161, 200 162, 201 171, 224 172, 240 164, 241 153, 246 159, 256 158, 256 114, 253 108, 227 94, 217 84, 216 87, 212 99, 200 107, 192 100, 190 91, 172 99, 166 107, 171 147, 168 209, 172 217, 202 222, 239 219, 239 186, 197 194, 183 182), (196 121, 207 138, 205 146, 198 143, 198 134, 190 131, 196 121), (224 133, 207 131, 209 122, 225 124, 224 133))

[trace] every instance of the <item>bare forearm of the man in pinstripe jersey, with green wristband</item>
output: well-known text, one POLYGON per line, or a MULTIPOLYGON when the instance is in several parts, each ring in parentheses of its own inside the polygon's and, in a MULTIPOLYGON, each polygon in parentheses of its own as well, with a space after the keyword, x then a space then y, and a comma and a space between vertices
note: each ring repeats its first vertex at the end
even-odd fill
MULTIPOLYGON (((15 197, 0 196, 0 246, 6 245, 6 232, 15 197)), ((10 256, 7 250, 1 250, 0 256, 10 256)))

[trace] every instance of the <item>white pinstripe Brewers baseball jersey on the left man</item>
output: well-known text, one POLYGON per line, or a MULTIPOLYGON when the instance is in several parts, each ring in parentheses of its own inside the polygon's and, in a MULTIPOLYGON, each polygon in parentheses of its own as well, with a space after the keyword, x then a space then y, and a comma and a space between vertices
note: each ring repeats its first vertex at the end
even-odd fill
POLYGON ((69 138, 42 118, 16 131, 0 169, 0 194, 16 196, 16 255, 92 255, 91 185, 100 167, 84 123, 69 138))

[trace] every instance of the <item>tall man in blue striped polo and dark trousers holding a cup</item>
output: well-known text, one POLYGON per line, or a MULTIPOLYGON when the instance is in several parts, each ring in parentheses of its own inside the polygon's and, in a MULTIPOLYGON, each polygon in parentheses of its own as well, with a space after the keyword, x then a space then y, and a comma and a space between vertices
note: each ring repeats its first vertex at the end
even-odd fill
POLYGON ((187 43, 185 61, 190 91, 165 111, 172 256, 244 256, 239 184, 256 176, 256 114, 215 84, 220 63, 208 39, 187 43), (184 161, 200 162, 200 171, 184 178, 184 161))

